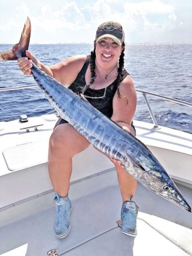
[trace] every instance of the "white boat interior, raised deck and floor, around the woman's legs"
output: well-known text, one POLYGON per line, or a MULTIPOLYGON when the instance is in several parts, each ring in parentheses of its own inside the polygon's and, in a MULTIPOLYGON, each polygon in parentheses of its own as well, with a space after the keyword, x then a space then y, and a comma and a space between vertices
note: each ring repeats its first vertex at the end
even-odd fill
MULTIPOLYGON (((104 155, 89 147, 73 159, 70 199, 72 228, 65 239, 53 230, 54 192, 48 177, 48 137, 54 115, 0 123, 0 254, 192 255, 192 214, 138 184, 138 236, 119 232, 121 197, 116 172, 104 155), (30 133, 23 127, 39 126, 30 133), (85 168, 86 166, 86 168, 85 168)), ((192 134, 135 121, 143 141, 192 205, 192 134), (183 186, 185 185, 185 186, 183 186)))

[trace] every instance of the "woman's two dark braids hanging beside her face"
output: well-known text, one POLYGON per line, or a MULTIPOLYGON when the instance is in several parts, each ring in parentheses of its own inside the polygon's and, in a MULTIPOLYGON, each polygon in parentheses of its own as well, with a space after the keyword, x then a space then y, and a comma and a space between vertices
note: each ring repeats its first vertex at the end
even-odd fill
MULTIPOLYGON (((125 47, 125 43, 123 42, 122 47, 125 47)), ((126 98, 124 95, 120 94, 119 91, 119 84, 123 79, 123 67, 124 67, 124 51, 125 48, 123 49, 120 57, 119 57, 119 67, 118 67, 118 77, 117 77, 117 83, 118 83, 118 97, 119 98, 126 98)), ((96 54, 95 54, 95 47, 93 49, 93 51, 91 51, 91 55, 90 55, 90 67, 91 67, 91 81, 90 81, 90 85, 94 83, 95 77, 96 77, 96 73, 95 73, 95 58, 96 58, 96 54)))

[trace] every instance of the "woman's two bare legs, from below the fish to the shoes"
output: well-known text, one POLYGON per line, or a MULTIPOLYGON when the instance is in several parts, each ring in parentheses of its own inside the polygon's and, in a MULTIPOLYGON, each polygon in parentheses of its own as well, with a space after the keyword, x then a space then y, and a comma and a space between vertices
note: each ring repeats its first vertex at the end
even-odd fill
MULTIPOLYGON (((85 150, 90 143, 68 123, 59 125, 49 140, 48 168, 54 190, 61 197, 69 192, 72 157, 85 150)), ((122 200, 129 201, 136 193, 137 181, 118 163, 115 163, 122 200)))

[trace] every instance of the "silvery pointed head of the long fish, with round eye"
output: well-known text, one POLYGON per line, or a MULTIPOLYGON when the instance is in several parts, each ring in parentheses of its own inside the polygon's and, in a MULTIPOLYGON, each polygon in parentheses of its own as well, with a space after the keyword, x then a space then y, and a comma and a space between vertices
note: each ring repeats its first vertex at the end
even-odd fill
POLYGON ((145 171, 140 177, 139 182, 164 199, 191 212, 190 205, 186 202, 176 184, 163 168, 159 169, 158 166, 157 169, 153 168, 152 170, 145 171))

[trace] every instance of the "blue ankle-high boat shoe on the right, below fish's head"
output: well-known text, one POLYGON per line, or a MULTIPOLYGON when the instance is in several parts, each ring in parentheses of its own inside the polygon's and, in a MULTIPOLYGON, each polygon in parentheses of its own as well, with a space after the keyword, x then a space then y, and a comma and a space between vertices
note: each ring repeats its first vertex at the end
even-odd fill
POLYGON ((137 236, 138 205, 132 200, 133 196, 130 201, 125 201, 122 204, 120 232, 135 237, 137 236))

